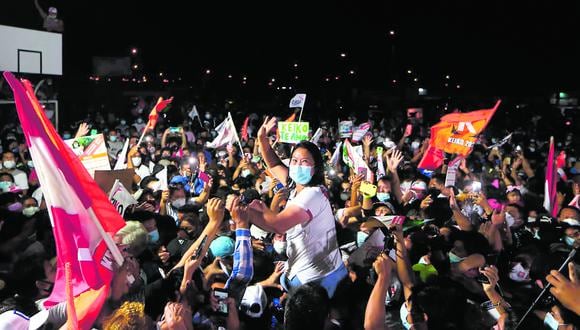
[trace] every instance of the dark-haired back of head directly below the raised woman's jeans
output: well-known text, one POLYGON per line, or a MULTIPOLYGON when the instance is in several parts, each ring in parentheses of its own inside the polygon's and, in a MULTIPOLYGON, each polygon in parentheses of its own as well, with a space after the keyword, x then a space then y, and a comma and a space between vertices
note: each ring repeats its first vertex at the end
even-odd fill
POLYGON ((290 291, 284 310, 284 329, 323 329, 329 302, 328 293, 319 284, 307 283, 290 291))

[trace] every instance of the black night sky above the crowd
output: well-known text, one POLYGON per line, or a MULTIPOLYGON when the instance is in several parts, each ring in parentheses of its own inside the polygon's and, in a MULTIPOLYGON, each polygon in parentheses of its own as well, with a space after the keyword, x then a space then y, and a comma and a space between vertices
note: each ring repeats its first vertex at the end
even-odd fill
MULTIPOLYGON (((427 88, 447 74, 466 90, 500 94, 580 86, 580 11, 570 2, 40 3, 56 6, 65 22, 69 77, 87 77, 93 55, 125 56, 134 46, 145 72, 185 80, 211 69, 264 86, 273 77, 290 84, 294 75, 322 85, 354 70, 357 86, 381 88, 411 69, 427 88)), ((42 28, 32 0, 2 7, 0 24, 42 28)))

